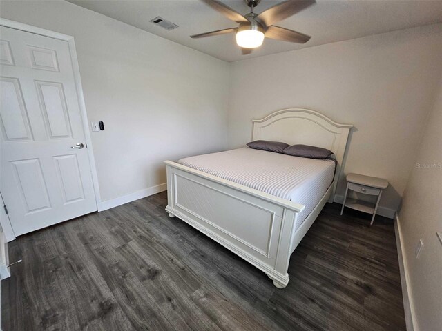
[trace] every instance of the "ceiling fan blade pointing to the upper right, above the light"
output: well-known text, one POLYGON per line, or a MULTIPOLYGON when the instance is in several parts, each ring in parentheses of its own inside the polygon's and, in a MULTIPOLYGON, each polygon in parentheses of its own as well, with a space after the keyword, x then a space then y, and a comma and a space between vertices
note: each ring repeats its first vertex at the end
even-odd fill
POLYGON ((282 3, 278 3, 278 5, 273 6, 256 17, 258 20, 265 23, 266 26, 271 26, 273 23, 277 23, 282 21, 283 19, 287 19, 287 17, 291 17, 291 15, 300 12, 301 10, 314 5, 316 3, 315 0, 289 0, 284 1, 282 3))

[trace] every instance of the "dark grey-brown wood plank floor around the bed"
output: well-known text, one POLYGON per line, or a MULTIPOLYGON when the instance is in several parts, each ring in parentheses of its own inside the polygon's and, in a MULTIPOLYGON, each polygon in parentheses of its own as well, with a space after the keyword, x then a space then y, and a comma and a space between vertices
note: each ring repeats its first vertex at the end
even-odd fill
POLYGON ((327 204, 278 290, 164 208, 166 193, 10 243, 3 331, 405 330, 391 220, 327 204))

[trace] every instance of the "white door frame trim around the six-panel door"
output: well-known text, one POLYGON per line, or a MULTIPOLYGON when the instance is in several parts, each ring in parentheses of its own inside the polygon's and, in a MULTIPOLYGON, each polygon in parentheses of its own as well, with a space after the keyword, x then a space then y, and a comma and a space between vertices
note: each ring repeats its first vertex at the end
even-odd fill
MULTIPOLYGON (((74 37, 68 36, 67 34, 61 34, 59 32, 37 28, 36 26, 29 26, 28 24, 19 23, 16 21, 10 21, 9 19, 3 19, 3 18, 0 18, 0 26, 5 26, 6 28, 12 28, 24 32, 40 34, 41 36, 60 39, 68 42, 70 58, 72 60, 72 66, 74 72, 75 88, 77 88, 81 121, 83 122, 84 137, 86 139, 86 146, 87 146, 86 149, 88 150, 90 172, 92 173, 93 188, 95 192, 95 202, 97 203, 97 210, 102 210, 102 199, 99 194, 97 168, 95 166, 92 139, 90 139, 88 114, 86 113, 86 103, 84 103, 83 88, 81 87, 80 68, 78 65, 77 51, 75 50, 74 37)), ((8 242, 14 240, 15 234, 14 231, 12 230, 12 226, 10 225, 9 221, 6 220, 5 222, 2 222, 1 226, 3 227, 3 231, 5 232, 6 240, 8 242), (5 224, 3 225, 3 223, 5 224)))

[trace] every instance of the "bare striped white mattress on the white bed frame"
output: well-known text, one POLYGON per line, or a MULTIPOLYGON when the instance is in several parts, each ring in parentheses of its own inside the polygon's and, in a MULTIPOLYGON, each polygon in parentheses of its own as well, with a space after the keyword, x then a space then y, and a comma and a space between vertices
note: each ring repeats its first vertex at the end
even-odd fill
POLYGON ((296 228, 307 218, 334 179, 335 162, 238 148, 180 159, 178 163, 305 205, 296 228))

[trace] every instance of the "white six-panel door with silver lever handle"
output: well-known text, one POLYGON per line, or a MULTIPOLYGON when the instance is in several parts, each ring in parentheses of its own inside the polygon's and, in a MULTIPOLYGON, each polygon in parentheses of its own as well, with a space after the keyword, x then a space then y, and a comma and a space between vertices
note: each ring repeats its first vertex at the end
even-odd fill
POLYGON ((0 29, 0 190, 19 236, 97 205, 68 42, 0 29))

